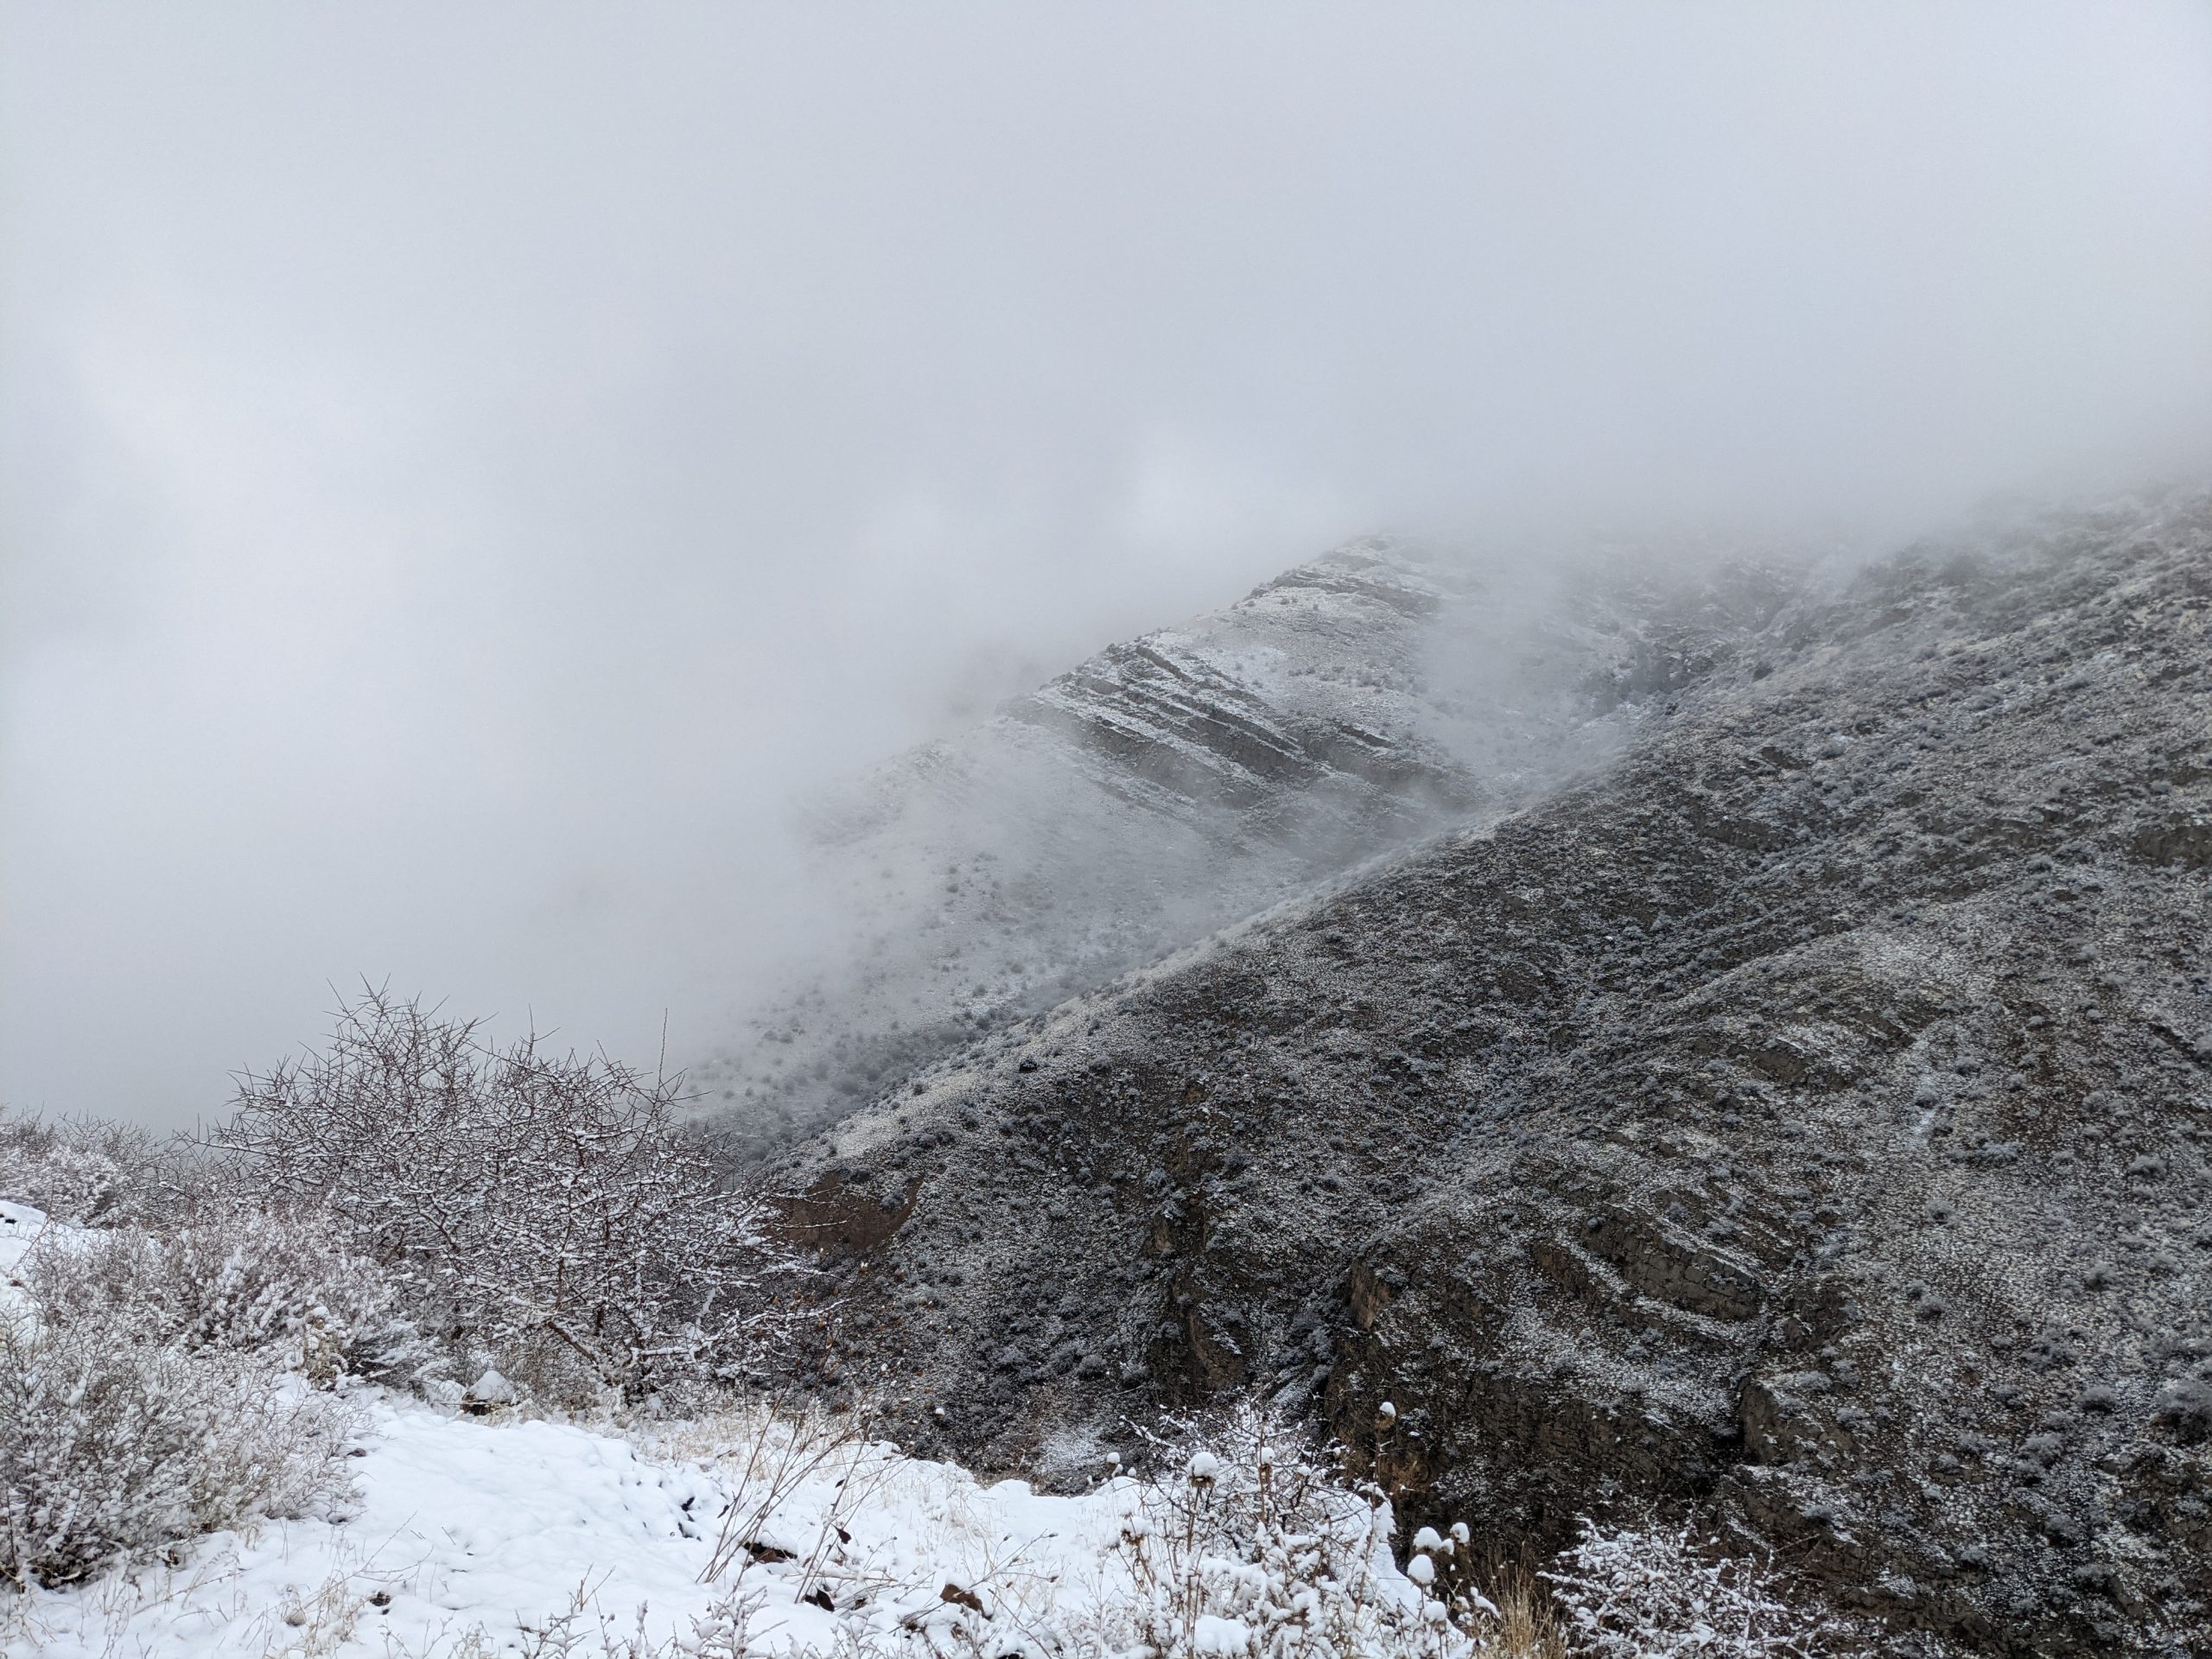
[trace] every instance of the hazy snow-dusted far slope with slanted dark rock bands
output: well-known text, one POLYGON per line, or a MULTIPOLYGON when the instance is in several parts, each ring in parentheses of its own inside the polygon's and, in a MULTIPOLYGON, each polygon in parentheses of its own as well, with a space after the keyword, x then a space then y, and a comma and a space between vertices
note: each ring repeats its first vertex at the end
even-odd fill
POLYGON ((1714 562, 1652 604, 1595 566, 1513 568, 1352 542, 814 803, 821 949, 695 1079, 741 1133, 834 1119, 980 1031, 1553 787, 1796 580, 1714 562))

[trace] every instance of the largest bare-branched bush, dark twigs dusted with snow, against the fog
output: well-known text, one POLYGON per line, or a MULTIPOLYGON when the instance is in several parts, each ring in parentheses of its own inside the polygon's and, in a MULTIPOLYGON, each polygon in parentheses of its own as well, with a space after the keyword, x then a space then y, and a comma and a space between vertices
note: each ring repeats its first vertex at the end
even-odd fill
POLYGON ((241 1082, 217 1179, 330 1217, 465 1363, 542 1391, 741 1374, 785 1259, 677 1124, 677 1084, 478 1031, 365 995, 327 1053, 241 1082))

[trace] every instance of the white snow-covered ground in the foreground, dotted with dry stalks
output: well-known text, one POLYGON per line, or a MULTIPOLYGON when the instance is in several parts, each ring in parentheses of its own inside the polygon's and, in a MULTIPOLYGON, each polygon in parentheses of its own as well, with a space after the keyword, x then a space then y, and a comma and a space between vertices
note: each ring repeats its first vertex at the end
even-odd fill
MULTIPOLYGON (((1053 1498, 763 1420, 653 1438, 380 1391, 363 1407, 347 1511, 0 1599, 4 1652, 973 1652, 969 1637, 1020 1652, 1046 1630, 1110 1650, 1137 1588, 1124 1531, 1146 1522, 1128 1478, 1053 1498)), ((1385 1537, 1387 1520, 1369 1595, 1418 1608, 1385 1537)), ((1243 1652, 1254 1635, 1203 1624, 1199 1650, 1243 1652)))

